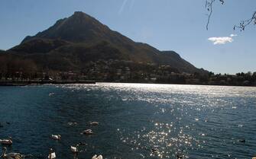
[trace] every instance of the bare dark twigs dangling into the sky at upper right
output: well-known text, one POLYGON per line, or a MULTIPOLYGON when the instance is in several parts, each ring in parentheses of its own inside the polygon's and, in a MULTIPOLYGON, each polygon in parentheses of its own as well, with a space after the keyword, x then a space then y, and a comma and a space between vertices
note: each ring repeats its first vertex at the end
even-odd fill
MULTIPOLYGON (((212 17, 212 11, 213 11, 212 6, 215 2, 216 0, 206 0, 206 9, 207 11, 209 11, 206 30, 208 30, 208 27, 209 27, 209 21, 210 21, 210 18, 212 17)), ((221 5, 224 5, 225 0, 219 0, 219 2, 221 3, 221 5)), ((233 29, 235 30, 238 28, 240 29, 240 31, 243 31, 245 30, 245 27, 247 27, 250 24, 256 24, 256 11, 254 11, 252 16, 247 20, 240 21, 238 25, 234 25, 233 29)))

